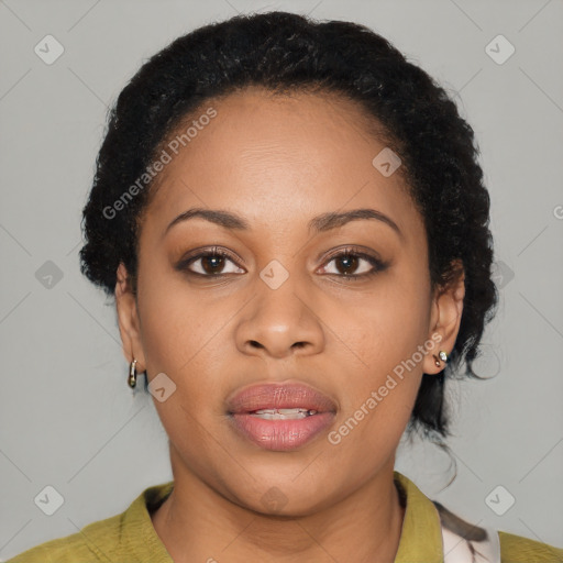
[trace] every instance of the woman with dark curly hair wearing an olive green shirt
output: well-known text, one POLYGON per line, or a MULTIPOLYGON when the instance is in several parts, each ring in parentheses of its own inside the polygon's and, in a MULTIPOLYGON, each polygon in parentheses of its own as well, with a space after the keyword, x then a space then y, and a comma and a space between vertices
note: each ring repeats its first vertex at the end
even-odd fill
POLYGON ((406 429, 448 435, 497 292, 473 131, 386 40, 285 12, 179 37, 121 92, 84 219, 174 481, 14 563, 563 559, 394 471, 406 429))

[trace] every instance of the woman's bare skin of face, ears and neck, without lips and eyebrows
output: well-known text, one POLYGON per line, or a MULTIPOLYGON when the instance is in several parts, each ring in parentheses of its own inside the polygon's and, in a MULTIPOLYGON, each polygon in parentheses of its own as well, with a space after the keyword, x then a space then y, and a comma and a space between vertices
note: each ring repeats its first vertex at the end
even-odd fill
MULTIPOLYGON (((136 298, 126 268, 118 269, 126 360, 136 358, 150 382, 164 372, 176 385, 164 402, 154 401, 169 438, 175 488, 152 514, 153 525, 177 563, 393 562, 404 518, 395 454, 422 374, 443 369, 432 354, 455 343, 463 275, 431 291, 422 218, 400 168, 384 177, 372 165, 385 144, 364 130, 356 104, 253 87, 210 106, 218 115, 165 167, 143 217, 136 298), (235 212, 251 229, 197 218, 165 234, 191 207, 235 212), (365 219, 307 230, 318 214, 357 208, 385 213, 401 234, 365 219), (188 251, 214 245, 234 254, 214 266, 224 277, 175 269, 188 251), (328 260, 350 245, 388 267, 344 279, 346 272, 372 269, 364 258, 355 266, 328 260), (275 290, 260 277, 272 260, 289 274, 275 290), (327 432, 432 334, 440 344, 331 444, 327 432), (286 380, 331 397, 334 422, 298 450, 261 449, 232 429, 225 399, 253 383, 286 380), (262 501, 272 487, 286 499, 279 510, 262 501)), ((203 269, 206 260, 189 267, 213 272, 209 261, 203 269)))

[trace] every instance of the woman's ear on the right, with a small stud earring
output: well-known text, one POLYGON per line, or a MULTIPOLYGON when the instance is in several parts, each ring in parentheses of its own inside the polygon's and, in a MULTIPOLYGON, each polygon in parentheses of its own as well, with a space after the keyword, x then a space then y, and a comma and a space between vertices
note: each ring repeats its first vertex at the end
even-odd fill
POLYGON ((440 360, 440 366, 435 365, 435 355, 443 350, 450 355, 457 333, 463 312, 463 298, 465 297, 465 273, 461 261, 453 264, 454 274, 446 286, 438 287, 432 302, 430 316, 429 340, 434 346, 424 356, 423 372, 426 374, 438 374, 444 368, 444 362, 440 360))

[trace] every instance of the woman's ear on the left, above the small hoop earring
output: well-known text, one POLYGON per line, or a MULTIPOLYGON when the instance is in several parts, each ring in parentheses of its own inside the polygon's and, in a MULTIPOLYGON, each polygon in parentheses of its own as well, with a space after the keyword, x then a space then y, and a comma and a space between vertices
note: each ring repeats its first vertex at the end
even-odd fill
POLYGON ((120 263, 118 267, 117 277, 115 306, 123 355, 129 363, 136 360, 137 372, 142 373, 146 369, 146 361, 141 339, 136 298, 131 287, 129 273, 123 263, 120 263))

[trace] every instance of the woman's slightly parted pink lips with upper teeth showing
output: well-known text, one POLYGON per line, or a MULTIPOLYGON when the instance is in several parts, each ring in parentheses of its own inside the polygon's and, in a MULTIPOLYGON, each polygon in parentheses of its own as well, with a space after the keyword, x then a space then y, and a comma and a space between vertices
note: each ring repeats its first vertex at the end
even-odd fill
POLYGON ((279 452, 311 442, 333 422, 338 410, 327 395, 300 383, 254 385, 227 402, 240 438, 279 452))

